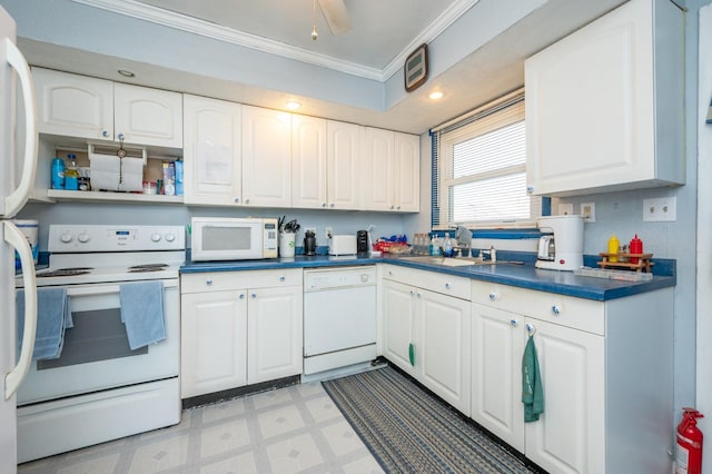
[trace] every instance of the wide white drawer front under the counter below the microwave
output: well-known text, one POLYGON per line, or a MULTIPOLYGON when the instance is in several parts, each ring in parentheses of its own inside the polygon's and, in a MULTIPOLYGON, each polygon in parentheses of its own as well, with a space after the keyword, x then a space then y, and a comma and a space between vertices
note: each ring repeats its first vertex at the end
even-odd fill
POLYGON ((180 276, 180 293, 182 294, 279 286, 301 286, 301 269, 205 271, 180 276))

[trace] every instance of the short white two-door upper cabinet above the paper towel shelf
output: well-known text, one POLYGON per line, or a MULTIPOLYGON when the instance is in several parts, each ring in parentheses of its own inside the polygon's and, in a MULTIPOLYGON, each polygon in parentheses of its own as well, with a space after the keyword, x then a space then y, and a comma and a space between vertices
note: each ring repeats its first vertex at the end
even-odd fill
POLYGON ((32 76, 41 134, 182 148, 178 92, 41 68, 32 76))

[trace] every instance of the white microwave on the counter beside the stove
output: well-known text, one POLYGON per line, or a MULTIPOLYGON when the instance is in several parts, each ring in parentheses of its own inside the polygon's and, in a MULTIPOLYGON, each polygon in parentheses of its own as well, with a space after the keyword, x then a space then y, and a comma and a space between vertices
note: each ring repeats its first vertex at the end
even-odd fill
POLYGON ((190 259, 277 258, 277 219, 194 217, 190 219, 190 259))

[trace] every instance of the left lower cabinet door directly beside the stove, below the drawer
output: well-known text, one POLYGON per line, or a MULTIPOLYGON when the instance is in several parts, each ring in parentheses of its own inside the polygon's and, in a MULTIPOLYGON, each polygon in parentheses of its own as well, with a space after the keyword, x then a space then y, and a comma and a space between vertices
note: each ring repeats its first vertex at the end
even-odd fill
POLYGON ((180 319, 182 398, 247 384, 245 290, 182 295, 180 319))

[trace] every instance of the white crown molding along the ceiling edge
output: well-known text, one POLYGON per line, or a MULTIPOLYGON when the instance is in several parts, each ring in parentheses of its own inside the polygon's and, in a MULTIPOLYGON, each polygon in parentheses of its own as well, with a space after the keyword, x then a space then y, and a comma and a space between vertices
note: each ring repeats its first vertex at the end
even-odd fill
POLYGON ((400 51, 383 70, 369 68, 355 62, 343 61, 330 56, 320 55, 301 48, 273 41, 263 37, 246 33, 211 23, 197 18, 188 17, 177 12, 164 10, 154 6, 138 2, 136 0, 71 0, 89 7, 100 8, 113 13, 149 21, 156 24, 174 28, 218 41, 250 48, 257 51, 276 55, 286 59, 293 59, 305 63, 319 66, 339 72, 363 77, 365 79, 385 82, 394 73, 403 68, 407 56, 416 47, 428 43, 437 38, 462 14, 469 10, 479 0, 456 0, 445 10, 433 23, 431 23, 418 37, 416 37, 404 51, 400 51))

